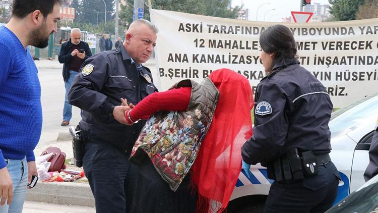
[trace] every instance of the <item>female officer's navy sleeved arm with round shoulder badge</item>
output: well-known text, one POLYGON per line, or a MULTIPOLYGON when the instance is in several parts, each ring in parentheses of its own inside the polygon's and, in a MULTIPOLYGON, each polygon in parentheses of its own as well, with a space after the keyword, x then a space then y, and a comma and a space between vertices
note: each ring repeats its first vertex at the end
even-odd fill
POLYGON ((241 156, 247 164, 269 162, 283 147, 289 118, 285 114, 287 98, 277 84, 262 85, 262 95, 255 100, 254 133, 242 146, 241 156), (258 115, 256 108, 260 107, 258 115), (264 111, 265 110, 265 111, 264 111))

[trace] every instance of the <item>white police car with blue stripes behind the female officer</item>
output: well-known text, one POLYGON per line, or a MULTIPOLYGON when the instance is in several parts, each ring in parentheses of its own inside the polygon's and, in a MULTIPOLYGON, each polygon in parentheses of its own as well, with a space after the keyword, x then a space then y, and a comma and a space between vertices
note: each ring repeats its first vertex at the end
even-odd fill
MULTIPOLYGON (((368 150, 378 118, 378 93, 332 114, 331 158, 339 170, 341 181, 335 203, 362 186, 363 173, 369 163, 368 150)), ((243 170, 239 175, 228 205, 229 212, 262 212, 269 187, 267 169, 251 166, 251 177, 243 170)))

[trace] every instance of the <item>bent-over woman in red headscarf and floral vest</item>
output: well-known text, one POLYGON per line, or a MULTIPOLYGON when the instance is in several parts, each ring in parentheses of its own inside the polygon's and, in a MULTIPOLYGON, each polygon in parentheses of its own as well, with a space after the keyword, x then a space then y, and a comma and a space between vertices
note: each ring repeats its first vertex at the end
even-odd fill
POLYGON ((225 209, 241 146, 252 134, 253 105, 248 80, 220 69, 201 84, 183 80, 126 111, 130 125, 149 118, 130 157, 140 166, 131 212, 225 209))

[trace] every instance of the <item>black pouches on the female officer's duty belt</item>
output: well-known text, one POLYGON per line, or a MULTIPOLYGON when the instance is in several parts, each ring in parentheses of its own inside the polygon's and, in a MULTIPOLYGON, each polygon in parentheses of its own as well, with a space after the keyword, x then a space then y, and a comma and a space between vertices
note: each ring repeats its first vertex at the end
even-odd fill
POLYGON ((311 150, 289 149, 268 163, 268 178, 276 181, 302 180, 318 174, 318 159, 311 150))

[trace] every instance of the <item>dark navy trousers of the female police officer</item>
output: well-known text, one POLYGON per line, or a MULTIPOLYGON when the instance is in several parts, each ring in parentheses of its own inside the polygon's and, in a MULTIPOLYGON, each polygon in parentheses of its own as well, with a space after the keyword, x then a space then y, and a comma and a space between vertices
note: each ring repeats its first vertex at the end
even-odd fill
POLYGON ((264 212, 325 212, 337 196, 341 180, 330 162, 318 167, 318 175, 295 182, 274 182, 264 212))

